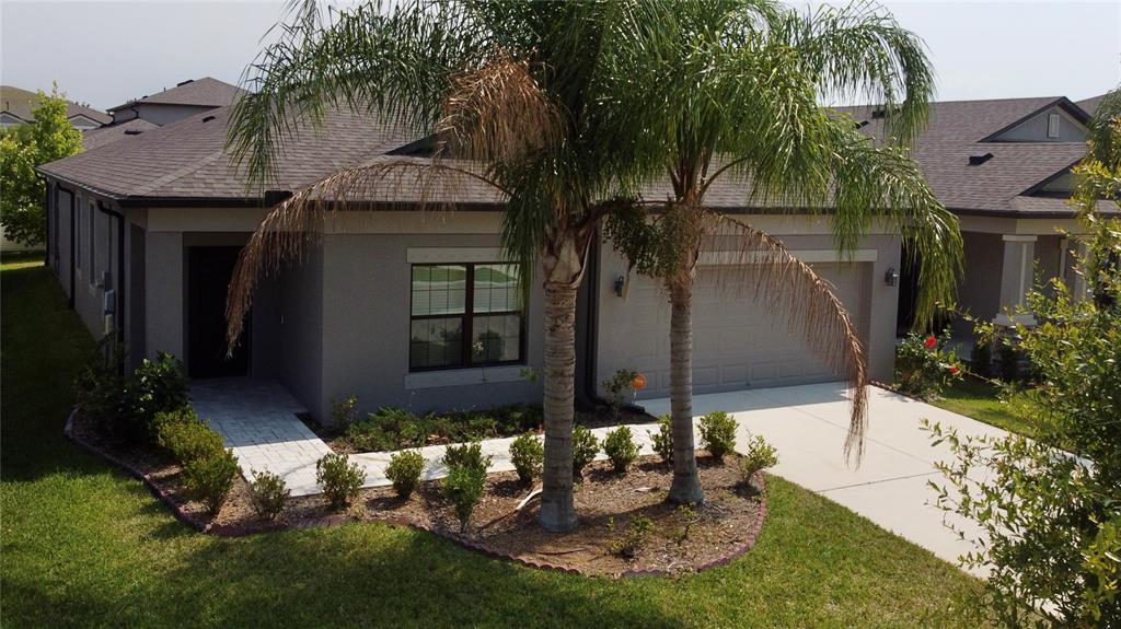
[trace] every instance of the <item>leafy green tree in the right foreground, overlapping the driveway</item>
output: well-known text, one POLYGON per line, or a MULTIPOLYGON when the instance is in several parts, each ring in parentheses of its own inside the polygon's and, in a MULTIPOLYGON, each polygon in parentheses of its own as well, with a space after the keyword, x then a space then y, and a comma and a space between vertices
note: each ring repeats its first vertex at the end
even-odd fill
POLYGON ((935 424, 938 506, 978 523, 964 564, 989 572, 979 612, 1007 627, 1121 627, 1121 91, 1099 105, 1073 203, 1088 233, 1077 270, 1090 295, 1053 280, 1018 326, 1040 382, 1021 435, 961 438, 935 424), (986 473, 976 473, 983 471, 986 473))

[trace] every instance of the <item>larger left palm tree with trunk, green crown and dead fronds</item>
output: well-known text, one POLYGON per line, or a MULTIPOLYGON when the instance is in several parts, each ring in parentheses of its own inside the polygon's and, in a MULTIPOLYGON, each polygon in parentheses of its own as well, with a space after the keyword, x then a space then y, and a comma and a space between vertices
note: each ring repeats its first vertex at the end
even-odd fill
MULTIPOLYGON (((485 181, 507 200, 502 244, 522 269, 540 265, 545 291, 545 471, 540 523, 576 526, 572 430, 576 290, 601 218, 626 193, 631 135, 604 90, 603 59, 627 4, 593 0, 407 0, 367 4, 323 24, 299 6, 285 36, 247 71, 250 94, 234 107, 229 148, 262 188, 295 131, 331 107, 376 114, 435 140, 435 157, 344 169, 276 207, 251 237, 228 302, 237 342, 258 278, 298 261, 335 199, 370 199, 387 187, 424 194, 485 181), (606 130, 611 130, 610 132, 606 130), (404 176, 402 172, 411 172, 404 176)), ((526 281, 532 273, 521 273, 526 281)))

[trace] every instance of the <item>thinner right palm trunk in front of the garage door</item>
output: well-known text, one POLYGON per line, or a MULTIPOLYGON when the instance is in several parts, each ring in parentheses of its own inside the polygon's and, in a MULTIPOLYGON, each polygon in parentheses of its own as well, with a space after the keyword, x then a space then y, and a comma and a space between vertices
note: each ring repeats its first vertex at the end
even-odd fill
POLYGON ((693 273, 669 282, 669 409, 674 434, 674 482, 669 501, 704 501, 693 443, 693 273))

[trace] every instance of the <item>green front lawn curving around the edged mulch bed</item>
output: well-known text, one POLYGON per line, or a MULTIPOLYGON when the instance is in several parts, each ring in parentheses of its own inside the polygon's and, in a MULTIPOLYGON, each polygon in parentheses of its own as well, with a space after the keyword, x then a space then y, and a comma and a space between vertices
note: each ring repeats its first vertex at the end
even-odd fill
POLYGON ((773 477, 757 548, 676 581, 539 572, 382 525, 201 535, 62 436, 92 340, 45 269, 0 284, 4 627, 954 627, 978 586, 773 477))

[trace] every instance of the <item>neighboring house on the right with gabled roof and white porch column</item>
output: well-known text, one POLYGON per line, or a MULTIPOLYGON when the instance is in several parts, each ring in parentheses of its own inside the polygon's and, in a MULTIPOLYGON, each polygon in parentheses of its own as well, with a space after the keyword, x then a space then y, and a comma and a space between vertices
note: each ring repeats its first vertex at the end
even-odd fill
MULTIPOLYGON (((1067 205, 1071 167, 1086 153, 1086 122, 1101 96, 934 103, 914 157, 938 199, 961 220, 965 275, 958 308, 1008 325, 1025 306, 1034 282, 1059 278, 1084 293, 1072 265, 1081 231, 1067 205), (1068 235, 1064 235, 1067 232, 1068 235)), ((844 109, 865 132, 879 137, 882 112, 844 109)), ((916 278, 904 270, 900 329, 909 327, 916 278)), ((1021 316, 1031 321, 1030 314, 1021 316)), ((969 340, 965 321, 955 336, 969 340)))

